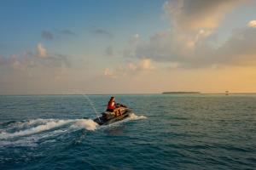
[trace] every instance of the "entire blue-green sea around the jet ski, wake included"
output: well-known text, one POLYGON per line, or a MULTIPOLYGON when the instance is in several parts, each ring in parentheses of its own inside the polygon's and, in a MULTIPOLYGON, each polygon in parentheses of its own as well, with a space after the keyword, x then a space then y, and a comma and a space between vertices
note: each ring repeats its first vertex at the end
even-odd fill
POLYGON ((0 169, 256 169, 256 95, 116 100, 134 114, 98 127, 83 95, 0 96, 0 169))

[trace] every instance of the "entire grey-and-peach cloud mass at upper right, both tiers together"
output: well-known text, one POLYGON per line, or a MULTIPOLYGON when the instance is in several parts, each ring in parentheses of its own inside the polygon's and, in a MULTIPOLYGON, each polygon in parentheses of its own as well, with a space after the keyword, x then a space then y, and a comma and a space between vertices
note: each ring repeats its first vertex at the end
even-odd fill
MULTIPOLYGON (((124 56, 130 59, 144 59, 144 56, 147 56, 147 59, 165 63, 172 69, 256 65, 256 28, 253 20, 247 27, 233 31, 222 44, 217 42, 218 34, 214 30, 224 14, 246 1, 203 1, 198 4, 200 2, 202 1, 195 0, 195 3, 192 3, 188 0, 166 3, 165 7, 168 7, 166 8, 171 14, 169 16, 176 22, 174 29, 157 32, 148 41, 137 39, 136 43, 130 43, 130 46, 125 48, 124 56), (175 2, 177 6, 173 6, 175 2), (218 12, 220 14, 217 14, 218 12), (218 18, 212 18, 212 14, 217 14, 218 18), (180 22, 185 21, 187 17, 186 20, 191 23, 185 23, 187 26, 184 26, 180 22), (205 18, 212 20, 214 26, 208 25, 205 18), (186 29, 180 29, 181 27, 186 29)), ((146 65, 148 61, 144 62, 146 65)))

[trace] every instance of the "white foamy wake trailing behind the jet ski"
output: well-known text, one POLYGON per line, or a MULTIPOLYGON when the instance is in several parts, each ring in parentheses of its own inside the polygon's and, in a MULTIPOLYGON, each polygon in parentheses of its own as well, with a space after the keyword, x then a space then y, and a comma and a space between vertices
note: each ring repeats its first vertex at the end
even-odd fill
POLYGON ((94 131, 98 126, 99 125, 91 119, 34 119, 26 122, 14 122, 5 127, 5 129, 0 130, 0 147, 5 147, 7 145, 35 147, 37 146, 37 142, 39 140, 45 140, 44 142, 50 143, 55 140, 49 137, 54 137, 61 133, 73 132, 76 131, 78 128, 85 128, 87 130, 94 131), (67 126, 61 127, 63 125, 67 126), (10 133, 14 130, 15 132, 10 133), (41 133, 44 131, 48 132, 41 133), (15 137, 22 138, 17 138, 14 141, 13 138, 15 137))

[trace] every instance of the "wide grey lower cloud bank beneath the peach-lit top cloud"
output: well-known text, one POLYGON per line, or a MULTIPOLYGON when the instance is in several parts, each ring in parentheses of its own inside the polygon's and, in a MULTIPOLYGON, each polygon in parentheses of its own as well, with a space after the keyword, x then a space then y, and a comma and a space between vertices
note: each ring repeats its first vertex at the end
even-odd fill
MULTIPOLYGON (((140 42, 132 48, 126 57, 143 59, 147 56, 154 61, 170 63, 172 68, 256 65, 256 28, 244 27, 233 31, 218 48, 212 46, 211 37, 198 35, 196 41, 191 40, 190 43, 187 39, 178 38, 172 31, 155 34, 149 42, 140 42)), ((147 62, 145 60, 144 64, 147 62)))

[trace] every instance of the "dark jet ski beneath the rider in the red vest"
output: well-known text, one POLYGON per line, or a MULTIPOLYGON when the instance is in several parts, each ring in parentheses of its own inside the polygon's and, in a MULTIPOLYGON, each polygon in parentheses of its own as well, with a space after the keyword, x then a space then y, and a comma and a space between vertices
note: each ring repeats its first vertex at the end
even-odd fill
POLYGON ((116 108, 118 108, 120 111, 118 116, 114 112, 104 111, 102 112, 102 116, 96 117, 93 121, 99 125, 108 125, 113 122, 122 121, 132 113, 132 110, 125 105, 117 105, 116 108))

